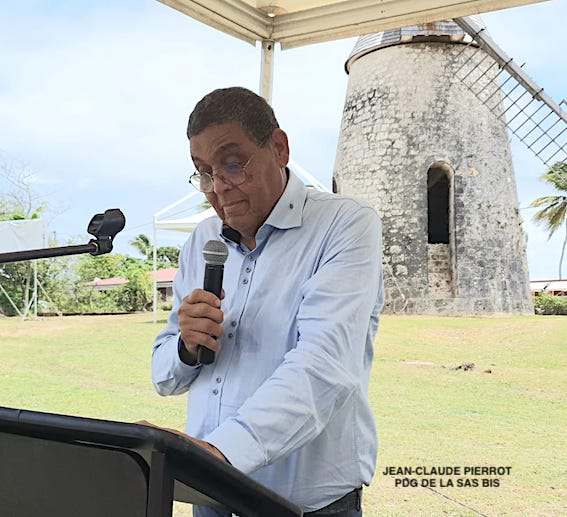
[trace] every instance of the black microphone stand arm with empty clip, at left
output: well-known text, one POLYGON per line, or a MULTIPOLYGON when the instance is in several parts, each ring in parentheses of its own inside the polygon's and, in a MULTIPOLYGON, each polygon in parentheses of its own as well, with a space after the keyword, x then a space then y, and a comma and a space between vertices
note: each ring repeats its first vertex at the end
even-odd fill
POLYGON ((96 214, 91 219, 87 231, 95 238, 91 239, 88 244, 0 253, 0 264, 18 262, 20 260, 79 255, 82 253, 90 253, 94 256, 110 253, 112 251, 112 240, 124 228, 125 224, 124 214, 120 210, 112 208, 104 212, 104 214, 96 214))

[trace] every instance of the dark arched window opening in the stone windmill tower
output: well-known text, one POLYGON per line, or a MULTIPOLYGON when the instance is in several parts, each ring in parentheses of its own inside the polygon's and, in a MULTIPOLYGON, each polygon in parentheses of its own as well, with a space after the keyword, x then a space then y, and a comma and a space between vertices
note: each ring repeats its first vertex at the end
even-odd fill
POLYGON ((449 244, 449 193, 446 164, 434 163, 427 172, 427 242, 449 244))

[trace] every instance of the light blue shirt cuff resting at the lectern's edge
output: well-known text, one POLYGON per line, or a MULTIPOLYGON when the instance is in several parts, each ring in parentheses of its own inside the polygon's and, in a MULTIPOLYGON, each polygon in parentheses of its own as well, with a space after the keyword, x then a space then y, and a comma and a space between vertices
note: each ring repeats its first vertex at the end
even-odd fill
POLYGON ((224 454, 233 467, 251 474, 267 464, 261 444, 238 422, 230 418, 203 438, 224 454))

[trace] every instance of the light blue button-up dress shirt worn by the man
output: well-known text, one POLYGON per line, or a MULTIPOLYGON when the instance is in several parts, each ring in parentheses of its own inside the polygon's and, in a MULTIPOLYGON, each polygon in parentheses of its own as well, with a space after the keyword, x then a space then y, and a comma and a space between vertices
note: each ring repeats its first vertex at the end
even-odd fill
POLYGON ((220 233, 212 217, 183 247, 173 310, 154 343, 155 388, 189 391, 187 434, 304 511, 317 510, 368 485, 375 469, 367 394, 383 305, 380 220, 290 173, 256 249, 220 233), (178 357, 177 309, 203 287, 211 239, 229 248, 224 335, 213 364, 188 366, 178 357))

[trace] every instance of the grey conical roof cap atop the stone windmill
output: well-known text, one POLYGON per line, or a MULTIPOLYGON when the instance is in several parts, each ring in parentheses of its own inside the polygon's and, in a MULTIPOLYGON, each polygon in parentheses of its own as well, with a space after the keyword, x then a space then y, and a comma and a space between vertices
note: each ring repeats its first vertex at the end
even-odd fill
MULTIPOLYGON (((484 24, 480 16, 470 16, 477 25, 484 24)), ((441 20, 420 25, 411 25, 400 29, 390 29, 374 34, 360 36, 346 60, 345 70, 348 74, 352 64, 360 57, 374 52, 375 50, 403 45, 405 43, 416 43, 421 41, 446 41, 452 43, 474 44, 472 37, 461 29, 453 20, 441 20)))

